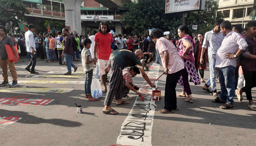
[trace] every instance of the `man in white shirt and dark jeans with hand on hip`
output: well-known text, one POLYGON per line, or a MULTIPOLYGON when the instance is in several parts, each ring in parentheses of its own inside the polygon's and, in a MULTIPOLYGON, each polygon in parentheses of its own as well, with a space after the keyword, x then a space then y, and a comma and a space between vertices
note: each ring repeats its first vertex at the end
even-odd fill
POLYGON ((236 58, 241 55, 246 47, 246 41, 242 36, 232 31, 229 21, 221 23, 221 32, 226 36, 216 54, 216 70, 219 70, 219 83, 221 84, 221 99, 217 98, 212 102, 225 103, 220 108, 233 108, 233 97, 235 95, 235 70, 236 58))

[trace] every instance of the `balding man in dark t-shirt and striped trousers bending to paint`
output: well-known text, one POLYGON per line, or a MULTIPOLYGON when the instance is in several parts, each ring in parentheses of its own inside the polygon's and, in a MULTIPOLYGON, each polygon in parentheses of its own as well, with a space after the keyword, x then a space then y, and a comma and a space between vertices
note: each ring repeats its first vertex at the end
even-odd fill
MULTIPOLYGON (((136 50, 135 53, 132 53, 132 51, 128 49, 119 49, 115 50, 111 53, 109 57, 109 65, 105 68, 105 73, 109 72, 111 69, 111 75, 110 75, 110 81, 109 81, 109 88, 108 92, 104 101, 104 114, 109 115, 117 115, 118 112, 113 110, 110 105, 112 103, 112 99, 115 96, 116 97, 116 105, 124 105, 129 104, 126 101, 123 101, 121 99, 121 93, 124 87, 124 78, 123 78, 123 69, 128 66, 137 66, 142 73, 143 78, 148 82, 148 84, 155 88, 156 86, 151 83, 149 80, 147 74, 142 69, 142 63, 140 62, 140 59, 143 57, 142 50, 136 50)), ((137 93, 139 96, 141 96, 141 93, 137 93)))

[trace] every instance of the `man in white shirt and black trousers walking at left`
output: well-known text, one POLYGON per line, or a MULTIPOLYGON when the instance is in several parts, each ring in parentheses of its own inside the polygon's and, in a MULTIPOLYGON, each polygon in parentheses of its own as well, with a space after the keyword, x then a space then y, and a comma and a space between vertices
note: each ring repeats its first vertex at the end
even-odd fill
POLYGON ((32 59, 29 62, 29 65, 25 68, 30 73, 38 73, 35 72, 35 65, 37 64, 37 56, 36 56, 36 49, 35 49, 35 39, 34 39, 34 33, 35 32, 35 26, 33 24, 29 24, 29 31, 25 33, 25 42, 26 42, 26 48, 29 55, 32 57, 32 59), (31 70, 30 70, 30 66, 31 70))

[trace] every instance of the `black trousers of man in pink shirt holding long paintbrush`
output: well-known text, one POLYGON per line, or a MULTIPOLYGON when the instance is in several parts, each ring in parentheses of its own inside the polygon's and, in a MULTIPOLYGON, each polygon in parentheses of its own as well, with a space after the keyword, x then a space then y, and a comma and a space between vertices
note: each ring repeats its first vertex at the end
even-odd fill
POLYGON ((182 70, 167 74, 165 84, 165 107, 168 111, 175 110, 177 108, 177 97, 176 97, 176 85, 180 78, 182 70))

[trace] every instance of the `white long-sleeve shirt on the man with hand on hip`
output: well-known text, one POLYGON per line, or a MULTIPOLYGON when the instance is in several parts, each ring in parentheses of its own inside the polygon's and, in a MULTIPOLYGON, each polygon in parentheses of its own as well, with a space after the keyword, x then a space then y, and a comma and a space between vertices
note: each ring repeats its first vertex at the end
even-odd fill
POLYGON ((236 54, 238 49, 245 50, 246 47, 248 47, 248 45, 240 34, 234 31, 229 32, 229 34, 227 34, 223 39, 221 47, 219 47, 217 51, 215 67, 223 68, 231 65, 236 68, 236 58, 228 59, 225 55, 227 52, 236 54))

